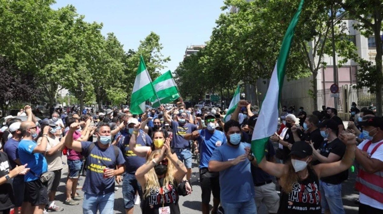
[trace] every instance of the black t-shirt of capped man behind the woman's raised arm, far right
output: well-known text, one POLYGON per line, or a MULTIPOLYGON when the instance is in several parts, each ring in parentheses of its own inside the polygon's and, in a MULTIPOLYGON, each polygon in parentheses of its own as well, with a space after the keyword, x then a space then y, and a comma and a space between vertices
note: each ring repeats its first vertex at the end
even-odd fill
MULTIPOLYGON (((346 145, 342 141, 339 140, 339 138, 336 138, 335 140, 332 140, 332 142, 328 143, 327 140, 324 141, 320 147, 320 154, 324 157, 329 157, 330 153, 334 153, 336 155, 339 155, 342 159, 344 153, 346 152, 346 145)), ((316 161, 316 163, 319 163, 316 161)), ((336 175, 331 175, 327 177, 321 178, 321 181, 331 184, 340 184, 342 181, 346 180, 349 176, 349 170, 345 170, 341 173, 338 173, 336 175)))

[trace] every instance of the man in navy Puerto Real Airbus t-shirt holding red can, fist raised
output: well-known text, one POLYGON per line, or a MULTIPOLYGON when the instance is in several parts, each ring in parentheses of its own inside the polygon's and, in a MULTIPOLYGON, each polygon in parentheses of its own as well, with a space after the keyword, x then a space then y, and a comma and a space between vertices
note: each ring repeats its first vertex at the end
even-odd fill
MULTIPOLYGON (((79 123, 72 123, 67 136, 79 129, 79 123)), ((113 213, 115 201, 115 176, 125 171, 125 160, 121 150, 111 145, 110 126, 108 123, 100 123, 96 132, 97 141, 75 141, 73 137, 65 138, 65 145, 76 152, 82 152, 87 158, 87 176, 85 177, 82 191, 84 202, 83 213, 95 214, 113 213), (116 169, 117 168, 117 169, 116 169)))

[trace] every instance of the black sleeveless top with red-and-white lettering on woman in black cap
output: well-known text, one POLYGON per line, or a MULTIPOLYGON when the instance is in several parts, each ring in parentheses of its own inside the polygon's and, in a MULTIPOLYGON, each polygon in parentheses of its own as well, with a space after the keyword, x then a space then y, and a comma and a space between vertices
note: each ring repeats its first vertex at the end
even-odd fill
POLYGON ((319 180, 314 170, 308 168, 309 176, 293 184, 293 190, 281 191, 278 214, 320 214, 321 194, 319 180))

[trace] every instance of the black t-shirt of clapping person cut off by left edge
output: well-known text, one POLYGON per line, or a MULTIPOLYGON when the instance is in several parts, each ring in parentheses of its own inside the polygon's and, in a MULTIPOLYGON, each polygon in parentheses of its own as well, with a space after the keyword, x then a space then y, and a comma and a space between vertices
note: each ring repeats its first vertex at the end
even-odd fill
MULTIPOLYGON (((11 165, 8 161, 8 155, 5 152, 0 152, 0 178, 8 175, 11 170, 11 165)), ((0 185, 0 210, 13 207, 14 204, 13 190, 11 180, 0 185)))

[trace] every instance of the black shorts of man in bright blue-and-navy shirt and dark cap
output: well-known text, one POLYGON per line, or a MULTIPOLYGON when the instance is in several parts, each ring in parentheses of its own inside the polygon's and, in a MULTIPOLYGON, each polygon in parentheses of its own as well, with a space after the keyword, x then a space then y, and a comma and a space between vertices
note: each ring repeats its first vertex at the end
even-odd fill
POLYGON ((219 173, 209 172, 206 168, 200 169, 200 185, 201 185, 201 198, 203 204, 210 203, 210 195, 213 193, 213 198, 220 199, 219 194, 219 173))

